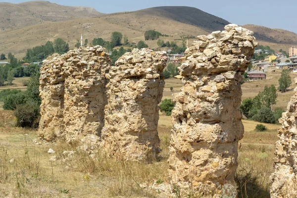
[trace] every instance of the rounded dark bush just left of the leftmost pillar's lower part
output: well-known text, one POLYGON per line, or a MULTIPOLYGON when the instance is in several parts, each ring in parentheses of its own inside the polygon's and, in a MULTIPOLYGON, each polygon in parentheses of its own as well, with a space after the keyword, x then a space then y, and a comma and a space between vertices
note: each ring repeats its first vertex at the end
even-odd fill
POLYGON ((18 105, 14 110, 16 124, 19 127, 38 127, 40 108, 37 103, 28 102, 18 105))

